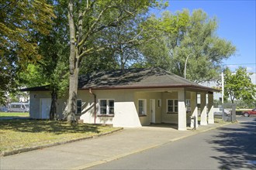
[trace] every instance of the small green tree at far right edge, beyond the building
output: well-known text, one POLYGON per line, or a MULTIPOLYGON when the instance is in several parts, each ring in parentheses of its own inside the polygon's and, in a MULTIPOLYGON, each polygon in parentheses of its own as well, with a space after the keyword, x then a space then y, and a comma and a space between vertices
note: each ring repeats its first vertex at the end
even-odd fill
POLYGON ((247 69, 239 67, 236 73, 226 68, 224 71, 224 93, 225 97, 229 97, 232 103, 234 100, 255 100, 256 85, 251 83, 251 73, 247 73, 247 69))

